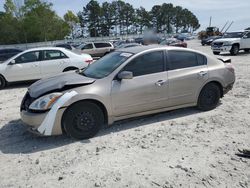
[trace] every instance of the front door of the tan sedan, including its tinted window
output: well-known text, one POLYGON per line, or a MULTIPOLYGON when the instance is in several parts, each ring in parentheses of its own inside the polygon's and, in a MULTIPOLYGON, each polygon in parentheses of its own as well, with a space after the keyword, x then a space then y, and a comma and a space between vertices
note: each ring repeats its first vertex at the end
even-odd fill
POLYGON ((150 52, 129 62, 121 71, 133 79, 113 80, 112 105, 115 116, 159 109, 168 105, 168 73, 164 51, 150 52))

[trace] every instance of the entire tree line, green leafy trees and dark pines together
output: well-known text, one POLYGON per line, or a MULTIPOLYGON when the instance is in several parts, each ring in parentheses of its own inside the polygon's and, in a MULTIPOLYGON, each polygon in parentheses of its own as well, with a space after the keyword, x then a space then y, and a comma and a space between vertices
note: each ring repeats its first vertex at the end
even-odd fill
POLYGON ((4 11, 0 12, 0 44, 60 40, 76 24, 91 37, 138 34, 146 29, 161 33, 192 32, 200 27, 191 11, 171 3, 155 5, 147 11, 122 0, 102 4, 90 0, 77 15, 68 11, 60 18, 47 1, 17 2, 20 1, 5 0, 4 11))

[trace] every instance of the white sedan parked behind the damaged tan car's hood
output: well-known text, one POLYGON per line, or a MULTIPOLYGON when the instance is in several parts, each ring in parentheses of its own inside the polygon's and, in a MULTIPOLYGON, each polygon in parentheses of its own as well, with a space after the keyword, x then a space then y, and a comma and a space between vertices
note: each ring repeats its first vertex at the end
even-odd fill
POLYGON ((29 49, 0 63, 0 89, 7 83, 38 80, 56 74, 87 67, 93 58, 78 55, 64 48, 29 49))

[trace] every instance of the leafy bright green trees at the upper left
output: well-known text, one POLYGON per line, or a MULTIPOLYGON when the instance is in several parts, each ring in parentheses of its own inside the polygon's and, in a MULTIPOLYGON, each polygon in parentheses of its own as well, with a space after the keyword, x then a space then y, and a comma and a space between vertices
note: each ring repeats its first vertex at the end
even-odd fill
POLYGON ((29 43, 63 39, 70 32, 68 23, 40 0, 5 0, 0 12, 0 44, 29 43))

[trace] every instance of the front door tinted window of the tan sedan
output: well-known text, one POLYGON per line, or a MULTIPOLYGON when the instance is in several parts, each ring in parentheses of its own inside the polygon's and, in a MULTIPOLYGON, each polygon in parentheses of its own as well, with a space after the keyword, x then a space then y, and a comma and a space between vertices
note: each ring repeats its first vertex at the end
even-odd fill
POLYGON ((132 60, 124 67, 124 71, 131 71, 133 75, 142 76, 164 71, 163 51, 151 52, 132 60))

